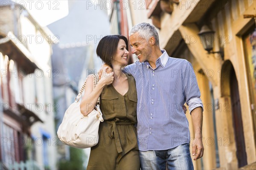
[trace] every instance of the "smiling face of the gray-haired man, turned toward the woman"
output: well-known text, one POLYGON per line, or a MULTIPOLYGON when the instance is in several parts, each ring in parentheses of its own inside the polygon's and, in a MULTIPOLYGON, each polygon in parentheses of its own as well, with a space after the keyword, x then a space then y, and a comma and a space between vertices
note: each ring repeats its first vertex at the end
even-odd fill
POLYGON ((129 38, 131 44, 131 53, 136 54, 140 63, 148 61, 151 57, 152 46, 143 35, 135 33, 129 38))

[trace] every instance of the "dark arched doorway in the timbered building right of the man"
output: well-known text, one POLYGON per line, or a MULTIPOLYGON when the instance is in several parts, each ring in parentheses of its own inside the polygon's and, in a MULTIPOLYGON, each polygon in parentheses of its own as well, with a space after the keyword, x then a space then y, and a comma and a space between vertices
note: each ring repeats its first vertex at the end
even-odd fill
POLYGON ((226 61, 221 69, 221 93, 222 95, 230 96, 231 99, 232 122, 236 141, 236 157, 238 160, 238 167, 243 167, 244 165, 247 165, 247 155, 244 142, 239 86, 236 72, 230 61, 226 61))

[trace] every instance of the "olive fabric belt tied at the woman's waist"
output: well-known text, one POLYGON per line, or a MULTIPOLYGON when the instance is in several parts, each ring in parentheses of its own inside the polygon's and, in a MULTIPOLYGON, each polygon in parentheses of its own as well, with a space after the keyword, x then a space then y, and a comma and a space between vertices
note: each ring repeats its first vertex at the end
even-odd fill
POLYGON ((110 129, 108 131, 109 132, 108 136, 111 137, 111 139, 115 138, 116 150, 118 153, 122 153, 122 146, 121 146, 119 133, 118 133, 116 125, 129 125, 132 123, 119 121, 119 118, 116 118, 113 121, 104 121, 104 122, 111 125, 109 127, 110 129))

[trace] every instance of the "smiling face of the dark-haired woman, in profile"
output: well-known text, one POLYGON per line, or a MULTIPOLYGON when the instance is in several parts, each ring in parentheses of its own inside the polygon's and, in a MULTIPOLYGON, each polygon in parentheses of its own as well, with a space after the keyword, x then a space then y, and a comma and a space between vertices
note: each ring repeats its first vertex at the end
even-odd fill
POLYGON ((120 39, 117 45, 116 54, 113 56, 112 65, 126 66, 129 52, 126 49, 125 41, 120 39))

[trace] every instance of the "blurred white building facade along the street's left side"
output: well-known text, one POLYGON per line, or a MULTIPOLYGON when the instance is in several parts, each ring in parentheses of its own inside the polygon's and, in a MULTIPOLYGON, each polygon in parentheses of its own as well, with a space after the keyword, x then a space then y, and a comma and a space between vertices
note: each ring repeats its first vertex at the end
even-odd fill
POLYGON ((56 169, 55 40, 24 6, 0 3, 0 169, 56 169))

